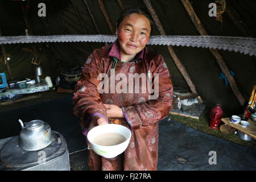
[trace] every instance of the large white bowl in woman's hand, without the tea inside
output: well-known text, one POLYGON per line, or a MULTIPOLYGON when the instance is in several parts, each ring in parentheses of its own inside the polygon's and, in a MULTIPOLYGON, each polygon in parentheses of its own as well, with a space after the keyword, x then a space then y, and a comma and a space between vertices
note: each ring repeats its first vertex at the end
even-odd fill
POLYGON ((115 125, 115 124, 106 124, 96 126, 91 129, 87 134, 87 139, 92 147, 92 150, 96 152, 96 154, 104 156, 104 158, 114 158, 115 156, 121 154, 123 151, 126 150, 130 139, 131 139, 131 131, 122 125, 115 125), (126 138, 125 142, 116 144, 114 146, 103 146, 98 145, 93 142, 94 138, 100 134, 107 134, 107 133, 117 133, 123 135, 126 138))

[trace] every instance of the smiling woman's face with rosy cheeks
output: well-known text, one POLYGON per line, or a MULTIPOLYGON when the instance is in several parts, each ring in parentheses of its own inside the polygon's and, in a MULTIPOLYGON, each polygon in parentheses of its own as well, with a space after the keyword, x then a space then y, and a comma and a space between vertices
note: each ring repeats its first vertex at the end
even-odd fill
POLYGON ((140 52, 150 38, 150 31, 150 21, 146 16, 138 13, 127 15, 115 32, 118 35, 121 56, 135 56, 140 52))

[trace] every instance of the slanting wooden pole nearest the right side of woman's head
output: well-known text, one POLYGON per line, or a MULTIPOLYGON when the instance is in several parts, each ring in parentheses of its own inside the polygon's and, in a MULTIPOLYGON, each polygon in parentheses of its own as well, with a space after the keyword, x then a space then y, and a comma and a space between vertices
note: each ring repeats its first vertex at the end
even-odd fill
MULTIPOLYGON (((154 19, 155 25, 158 28, 160 34, 161 35, 166 35, 166 32, 164 31, 164 28, 163 28, 162 24, 160 23, 158 15, 156 14, 154 8, 152 7, 150 0, 142 0, 142 1, 146 5, 147 10, 151 14, 152 18, 154 19)), ((180 62, 179 58, 177 57, 177 55, 176 55, 174 49, 172 48, 172 46, 168 46, 168 51, 169 51, 172 59, 174 60, 174 63, 176 64, 177 68, 179 69, 181 75, 184 77, 184 79, 187 82, 189 88, 191 89, 191 92, 194 93, 194 94, 197 94, 195 85, 193 84, 191 78, 189 77, 188 72, 185 69, 184 65, 180 62)), ((203 102, 203 101, 201 101, 201 102, 203 102)))

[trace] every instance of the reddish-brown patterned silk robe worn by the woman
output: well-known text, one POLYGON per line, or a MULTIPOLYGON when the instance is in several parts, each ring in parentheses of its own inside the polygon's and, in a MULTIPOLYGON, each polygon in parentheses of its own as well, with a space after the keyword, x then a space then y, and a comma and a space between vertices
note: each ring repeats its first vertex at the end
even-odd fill
POLYGON ((133 61, 125 63, 120 60, 117 40, 112 45, 95 49, 85 61, 82 75, 75 88, 74 114, 80 118, 85 136, 88 129, 97 126, 97 123, 90 122, 93 115, 101 115, 109 123, 117 123, 129 127, 131 130, 130 143, 125 152, 115 158, 107 159, 97 155, 93 150, 89 150, 88 164, 90 170, 156 170, 158 121, 167 117, 172 105, 173 87, 170 73, 163 57, 153 53, 147 47, 139 52, 133 61), (110 78, 110 71, 113 70, 116 77, 115 88, 113 85, 110 86, 111 80, 109 79, 109 92, 106 92, 106 89, 103 93, 99 92, 99 85, 105 78, 99 80, 98 75, 106 73, 110 78), (122 73, 122 81, 124 81, 122 84, 120 83, 121 79, 117 78, 118 73, 122 73), (133 90, 129 90, 131 86, 131 82, 128 81, 129 75, 136 73, 146 76, 148 80, 151 79, 152 86, 148 86, 150 85, 148 82, 145 86, 142 81, 136 85, 136 79, 133 78, 131 79, 134 84, 133 90), (156 75, 158 75, 158 79, 156 79, 156 75), (125 92, 123 83, 127 84, 127 92, 125 92), (139 92, 136 91, 138 86, 139 92), (154 93, 145 87, 152 88, 154 93), (110 90, 118 88, 123 89, 123 92, 114 90, 113 93, 110 90), (150 98, 153 94, 158 97, 150 98), (125 118, 108 118, 104 104, 121 107, 125 118))

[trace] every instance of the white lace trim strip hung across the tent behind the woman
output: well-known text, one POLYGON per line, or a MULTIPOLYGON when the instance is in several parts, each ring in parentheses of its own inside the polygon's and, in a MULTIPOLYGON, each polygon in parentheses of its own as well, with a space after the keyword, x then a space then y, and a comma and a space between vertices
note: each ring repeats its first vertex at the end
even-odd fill
MULTIPOLYGON (((1 36, 0 44, 42 42, 102 42, 113 43, 116 35, 49 35, 49 36, 1 36)), ((256 39, 232 36, 151 36, 148 44, 187 46, 235 51, 256 56, 256 39)))

